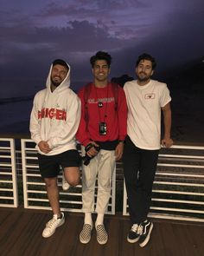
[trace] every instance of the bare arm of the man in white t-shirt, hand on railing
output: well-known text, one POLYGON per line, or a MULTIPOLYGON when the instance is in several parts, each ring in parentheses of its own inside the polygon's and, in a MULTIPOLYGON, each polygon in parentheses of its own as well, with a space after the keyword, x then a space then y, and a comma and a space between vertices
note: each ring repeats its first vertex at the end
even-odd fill
POLYGON ((173 140, 170 137, 171 130, 171 108, 170 103, 166 104, 163 108, 163 125, 164 125, 164 136, 162 140, 163 147, 169 148, 173 145, 173 140))

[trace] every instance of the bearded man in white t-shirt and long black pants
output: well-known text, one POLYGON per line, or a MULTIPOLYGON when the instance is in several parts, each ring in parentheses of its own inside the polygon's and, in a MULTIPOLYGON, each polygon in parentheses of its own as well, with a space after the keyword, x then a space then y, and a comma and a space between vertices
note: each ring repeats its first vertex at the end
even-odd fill
POLYGON ((127 240, 139 241, 141 247, 150 240, 153 223, 147 220, 152 185, 161 148, 172 146, 169 89, 163 82, 151 80, 155 59, 143 54, 136 63, 137 80, 124 84, 128 105, 127 137, 124 144, 124 178, 128 195, 131 230, 127 240), (162 109, 162 111, 161 111, 162 109), (161 141, 161 112, 164 135, 161 141))

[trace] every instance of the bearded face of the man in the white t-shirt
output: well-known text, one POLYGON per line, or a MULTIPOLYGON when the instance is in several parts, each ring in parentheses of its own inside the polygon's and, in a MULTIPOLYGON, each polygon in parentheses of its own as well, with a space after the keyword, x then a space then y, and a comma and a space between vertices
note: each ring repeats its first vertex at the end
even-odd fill
POLYGON ((136 75, 139 82, 148 82, 154 71, 152 63, 148 60, 141 60, 136 68, 136 75))

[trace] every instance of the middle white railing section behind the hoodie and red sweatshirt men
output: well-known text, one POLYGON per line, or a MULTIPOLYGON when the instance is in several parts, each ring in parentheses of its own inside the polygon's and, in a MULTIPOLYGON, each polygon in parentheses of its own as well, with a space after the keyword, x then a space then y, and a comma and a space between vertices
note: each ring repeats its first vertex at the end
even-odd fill
MULTIPOLYGON (((50 209, 45 183, 41 179, 38 168, 37 152, 32 140, 22 139, 22 183, 25 208, 50 209)), ((81 185, 71 187, 68 192, 61 189, 61 175, 58 177, 60 187, 61 210, 81 212, 81 185)), ((116 171, 112 178, 112 195, 109 201, 107 213, 115 214, 116 171)), ((97 186, 96 186, 97 188, 97 186)), ((95 194, 95 197, 97 195, 95 194)))

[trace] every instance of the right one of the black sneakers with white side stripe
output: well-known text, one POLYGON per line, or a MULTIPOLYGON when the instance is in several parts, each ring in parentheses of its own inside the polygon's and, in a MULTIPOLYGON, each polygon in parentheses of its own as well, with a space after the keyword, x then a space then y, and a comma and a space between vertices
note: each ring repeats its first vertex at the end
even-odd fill
POLYGON ((152 228, 153 228, 153 223, 150 222, 149 220, 143 221, 138 226, 137 233, 140 234, 140 237, 139 237, 139 246, 140 247, 146 246, 146 244, 149 242, 150 233, 152 231, 152 228))

